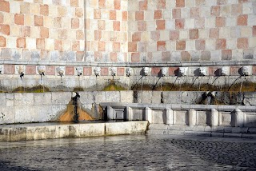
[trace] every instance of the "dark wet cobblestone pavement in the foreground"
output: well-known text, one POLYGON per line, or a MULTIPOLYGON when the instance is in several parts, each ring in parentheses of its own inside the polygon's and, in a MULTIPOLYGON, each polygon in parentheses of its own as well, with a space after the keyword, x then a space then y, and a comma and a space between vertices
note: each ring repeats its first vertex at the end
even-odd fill
POLYGON ((256 141, 133 135, 0 143, 0 170, 256 170, 256 141))

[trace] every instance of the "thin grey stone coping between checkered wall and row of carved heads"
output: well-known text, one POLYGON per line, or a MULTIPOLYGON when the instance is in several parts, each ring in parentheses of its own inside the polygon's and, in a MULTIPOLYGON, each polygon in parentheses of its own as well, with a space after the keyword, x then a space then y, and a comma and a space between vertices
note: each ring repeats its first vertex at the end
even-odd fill
POLYGON ((256 61, 222 61, 222 62, 65 62, 65 61, 12 61, 0 60, 0 65, 38 65, 38 66, 114 66, 114 67, 167 67, 167 66, 254 66, 256 61))

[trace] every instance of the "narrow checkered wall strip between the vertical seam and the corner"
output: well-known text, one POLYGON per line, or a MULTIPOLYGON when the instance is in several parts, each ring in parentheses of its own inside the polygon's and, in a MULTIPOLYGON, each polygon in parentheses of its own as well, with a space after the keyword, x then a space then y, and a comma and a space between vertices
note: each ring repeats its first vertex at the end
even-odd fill
POLYGON ((86 1, 86 62, 127 62, 128 0, 86 1))

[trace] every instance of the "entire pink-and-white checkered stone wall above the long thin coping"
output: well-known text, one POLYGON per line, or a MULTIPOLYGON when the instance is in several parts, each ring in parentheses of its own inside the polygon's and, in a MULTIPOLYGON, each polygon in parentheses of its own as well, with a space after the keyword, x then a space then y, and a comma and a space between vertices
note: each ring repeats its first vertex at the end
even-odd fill
POLYGON ((14 0, 0 6, 2 60, 242 61, 256 54, 254 0, 14 0))

